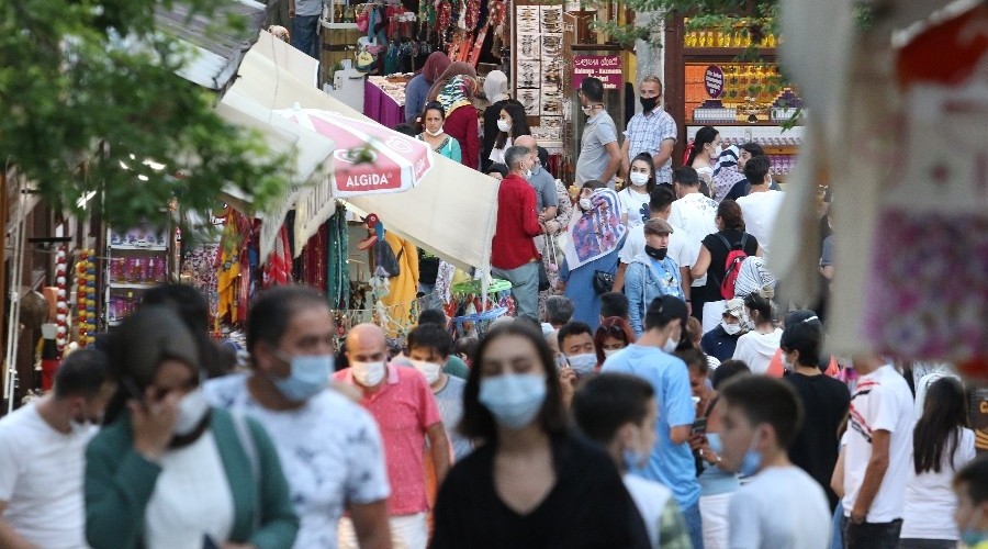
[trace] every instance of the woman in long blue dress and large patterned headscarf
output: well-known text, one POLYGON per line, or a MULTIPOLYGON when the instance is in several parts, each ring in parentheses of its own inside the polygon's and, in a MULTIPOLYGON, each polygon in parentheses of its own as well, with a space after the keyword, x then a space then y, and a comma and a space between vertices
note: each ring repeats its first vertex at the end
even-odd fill
POLYGON ((600 294, 610 291, 628 234, 617 193, 600 181, 583 183, 568 227, 557 290, 573 302, 573 318, 592 330, 600 324, 600 294), (596 281, 595 281, 596 280, 596 281))

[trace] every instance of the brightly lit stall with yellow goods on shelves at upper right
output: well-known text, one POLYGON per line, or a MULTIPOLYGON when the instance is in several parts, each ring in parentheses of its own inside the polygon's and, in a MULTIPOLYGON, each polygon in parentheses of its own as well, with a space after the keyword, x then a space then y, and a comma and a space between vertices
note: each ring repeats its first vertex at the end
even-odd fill
POLYGON ((720 132, 723 146, 761 145, 772 160, 773 179, 785 182, 804 142, 800 121, 793 121, 802 99, 779 71, 777 46, 775 35, 753 37, 741 23, 697 30, 682 16, 672 18, 666 27, 665 103, 672 117, 684 122, 674 163, 683 161, 696 132, 710 125, 720 132), (784 127, 791 122, 795 126, 784 127))

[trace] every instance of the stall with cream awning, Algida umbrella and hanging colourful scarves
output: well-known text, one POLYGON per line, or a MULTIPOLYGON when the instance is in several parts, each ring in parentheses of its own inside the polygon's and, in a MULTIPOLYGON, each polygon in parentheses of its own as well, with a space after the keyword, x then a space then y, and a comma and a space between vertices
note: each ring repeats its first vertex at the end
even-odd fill
POLYGON ((274 63, 277 56, 262 48, 249 52, 221 111, 236 117, 234 107, 243 114, 250 105, 273 105, 267 116, 287 122, 279 127, 296 132, 296 143, 332 146, 318 150, 327 155, 321 170, 302 178, 311 182, 269 212, 252 212, 233 193, 224 197, 233 206, 224 237, 234 246, 220 246, 217 313, 236 324, 246 318, 258 289, 296 280, 326 292, 340 330, 370 321, 400 337, 417 316, 408 283, 417 278, 416 247, 462 268, 489 268, 496 186, 291 74, 279 74, 274 63))

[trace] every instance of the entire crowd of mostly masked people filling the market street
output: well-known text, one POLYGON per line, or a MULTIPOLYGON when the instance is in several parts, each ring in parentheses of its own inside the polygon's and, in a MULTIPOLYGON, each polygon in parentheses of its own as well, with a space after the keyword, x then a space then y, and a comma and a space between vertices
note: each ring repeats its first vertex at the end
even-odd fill
POLYGON ((661 82, 619 139, 587 78, 571 194, 506 78, 481 136, 473 68, 434 57, 404 130, 501 180, 491 274, 516 315, 454 340, 427 309, 395 354, 278 287, 238 365, 202 295, 148 292, 0 419, 0 547, 988 546, 959 379, 833 357, 820 306, 776 302, 757 145, 707 126, 673 169, 661 82))

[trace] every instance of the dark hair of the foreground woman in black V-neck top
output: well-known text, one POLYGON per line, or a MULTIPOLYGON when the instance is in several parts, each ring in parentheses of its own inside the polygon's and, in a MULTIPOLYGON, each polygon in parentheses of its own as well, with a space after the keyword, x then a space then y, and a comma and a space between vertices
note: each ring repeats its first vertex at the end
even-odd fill
POLYGON ((497 444, 497 427, 494 416, 480 403, 481 371, 483 370, 484 356, 491 344, 502 337, 516 336, 528 339, 535 347, 538 361, 546 374, 546 401, 539 412, 538 422, 549 435, 560 435, 566 429, 566 414, 562 405, 559 382, 555 373, 555 359, 549 344, 541 332, 525 325, 524 323, 510 323, 497 326, 484 335, 476 352, 473 356, 473 366, 470 368, 470 377, 467 378, 467 386, 463 389, 463 419, 460 422, 460 433, 468 438, 483 444, 497 444))

